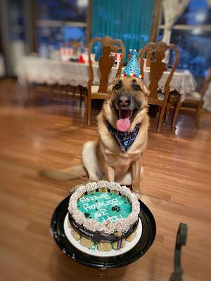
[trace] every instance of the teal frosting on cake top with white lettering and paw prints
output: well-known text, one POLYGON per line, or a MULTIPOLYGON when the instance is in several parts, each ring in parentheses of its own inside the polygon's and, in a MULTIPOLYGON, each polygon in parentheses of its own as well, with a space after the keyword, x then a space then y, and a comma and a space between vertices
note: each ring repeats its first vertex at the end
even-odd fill
POLYGON ((77 208, 85 214, 86 218, 94 218, 99 223, 108 218, 112 222, 119 218, 126 218, 132 210, 131 204, 121 195, 99 191, 80 198, 77 208))

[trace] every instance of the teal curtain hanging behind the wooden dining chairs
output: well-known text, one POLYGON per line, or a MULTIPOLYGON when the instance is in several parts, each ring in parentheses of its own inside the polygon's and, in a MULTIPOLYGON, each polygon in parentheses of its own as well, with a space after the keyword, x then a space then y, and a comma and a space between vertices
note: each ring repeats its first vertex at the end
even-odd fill
POLYGON ((108 35, 123 41, 126 54, 139 51, 149 40, 153 6, 154 0, 93 0, 91 37, 108 35))

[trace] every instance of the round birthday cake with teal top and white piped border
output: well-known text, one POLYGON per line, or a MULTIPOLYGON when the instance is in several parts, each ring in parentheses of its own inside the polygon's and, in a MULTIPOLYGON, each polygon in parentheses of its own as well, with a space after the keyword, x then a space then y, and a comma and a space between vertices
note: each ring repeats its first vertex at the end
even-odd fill
POLYGON ((98 181, 82 185, 70 197, 68 226, 75 240, 89 249, 122 249, 136 236, 139 200, 129 188, 98 181))

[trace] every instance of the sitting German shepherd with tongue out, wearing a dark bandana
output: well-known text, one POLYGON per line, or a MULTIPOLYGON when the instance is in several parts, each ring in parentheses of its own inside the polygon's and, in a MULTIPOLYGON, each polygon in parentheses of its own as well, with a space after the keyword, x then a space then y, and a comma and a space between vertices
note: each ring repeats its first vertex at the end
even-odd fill
POLYGON ((132 185, 134 191, 140 192, 141 159, 148 139, 148 94, 141 79, 115 79, 97 117, 98 141, 84 144, 83 165, 42 174, 62 181, 80 176, 89 176, 93 181, 106 179, 132 185))

